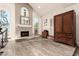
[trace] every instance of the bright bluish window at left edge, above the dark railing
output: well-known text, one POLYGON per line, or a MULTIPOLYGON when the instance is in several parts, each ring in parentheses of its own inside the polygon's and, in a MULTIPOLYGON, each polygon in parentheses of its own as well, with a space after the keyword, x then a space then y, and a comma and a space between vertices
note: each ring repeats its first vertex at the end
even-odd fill
POLYGON ((2 26, 9 26, 10 14, 8 11, 0 10, 0 24, 2 26))

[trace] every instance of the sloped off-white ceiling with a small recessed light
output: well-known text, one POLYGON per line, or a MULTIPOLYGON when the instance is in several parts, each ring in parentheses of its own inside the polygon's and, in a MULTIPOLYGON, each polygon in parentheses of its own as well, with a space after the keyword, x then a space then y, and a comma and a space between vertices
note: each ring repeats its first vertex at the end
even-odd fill
POLYGON ((32 8, 40 15, 44 16, 50 11, 55 11, 57 9, 65 8, 71 6, 75 3, 30 3, 32 8))

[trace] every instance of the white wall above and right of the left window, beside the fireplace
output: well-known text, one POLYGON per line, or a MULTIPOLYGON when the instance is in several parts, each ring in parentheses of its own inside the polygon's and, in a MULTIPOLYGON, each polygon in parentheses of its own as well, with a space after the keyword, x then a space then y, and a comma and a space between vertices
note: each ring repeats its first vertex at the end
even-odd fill
POLYGON ((15 4, 13 3, 1 3, 0 10, 7 10, 10 12, 10 37, 15 37, 15 4))

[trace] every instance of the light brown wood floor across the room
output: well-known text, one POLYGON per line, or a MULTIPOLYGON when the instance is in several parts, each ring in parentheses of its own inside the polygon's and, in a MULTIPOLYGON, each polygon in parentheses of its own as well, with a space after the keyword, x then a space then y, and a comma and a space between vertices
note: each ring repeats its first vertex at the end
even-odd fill
POLYGON ((2 56, 71 56, 75 47, 50 39, 34 38, 9 41, 2 56))

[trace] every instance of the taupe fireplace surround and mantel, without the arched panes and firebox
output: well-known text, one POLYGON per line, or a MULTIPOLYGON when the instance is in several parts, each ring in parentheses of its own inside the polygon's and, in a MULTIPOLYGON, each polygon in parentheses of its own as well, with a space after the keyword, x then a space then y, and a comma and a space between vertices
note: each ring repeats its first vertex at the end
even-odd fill
POLYGON ((26 4, 26 3, 16 3, 15 4, 15 38, 16 39, 21 39, 21 38, 28 38, 28 37, 31 37, 33 36, 33 30, 32 30, 32 12, 33 12, 33 9, 31 8, 31 6, 29 4, 26 4), (29 10, 29 15, 30 15, 30 19, 29 19, 29 25, 22 25, 20 24, 20 9, 22 7, 26 7, 28 10, 29 10), (21 37, 21 31, 29 31, 29 36, 27 37, 21 37))

